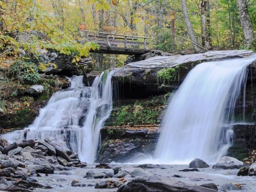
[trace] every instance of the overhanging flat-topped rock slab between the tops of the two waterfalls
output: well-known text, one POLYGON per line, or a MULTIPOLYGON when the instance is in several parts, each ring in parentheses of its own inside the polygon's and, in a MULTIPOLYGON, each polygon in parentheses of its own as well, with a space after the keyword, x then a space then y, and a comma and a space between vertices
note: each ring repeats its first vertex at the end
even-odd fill
MULTIPOLYGON (((156 56, 144 61, 126 64, 113 75, 121 97, 138 98, 174 90, 186 74, 205 61, 241 58, 254 54, 247 50, 210 51, 192 55, 156 56), (157 77, 161 69, 172 68, 168 79, 157 77), (136 94, 134 94, 136 93, 136 94)), ((163 71, 164 73, 168 73, 163 71)))

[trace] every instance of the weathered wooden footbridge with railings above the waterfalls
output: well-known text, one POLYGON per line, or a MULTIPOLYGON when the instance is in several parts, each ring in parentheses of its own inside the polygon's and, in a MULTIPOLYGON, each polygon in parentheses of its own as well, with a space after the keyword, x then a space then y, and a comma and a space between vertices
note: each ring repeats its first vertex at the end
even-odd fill
POLYGON ((122 55, 141 55, 150 52, 147 48, 148 37, 85 30, 82 30, 81 34, 86 41, 94 41, 99 44, 98 50, 90 50, 90 52, 122 55))

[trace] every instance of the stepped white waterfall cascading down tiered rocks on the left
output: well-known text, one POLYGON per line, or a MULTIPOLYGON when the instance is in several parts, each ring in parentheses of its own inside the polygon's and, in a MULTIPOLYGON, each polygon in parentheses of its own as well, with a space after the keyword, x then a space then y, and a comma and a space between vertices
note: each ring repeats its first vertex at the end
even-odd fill
POLYGON ((54 93, 32 125, 1 137, 8 141, 49 138, 78 153, 80 160, 93 163, 100 128, 112 110, 113 73, 102 73, 91 87, 84 86, 83 76, 69 78, 71 87, 54 93))

